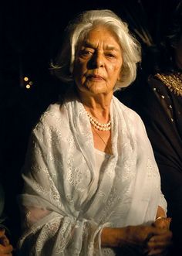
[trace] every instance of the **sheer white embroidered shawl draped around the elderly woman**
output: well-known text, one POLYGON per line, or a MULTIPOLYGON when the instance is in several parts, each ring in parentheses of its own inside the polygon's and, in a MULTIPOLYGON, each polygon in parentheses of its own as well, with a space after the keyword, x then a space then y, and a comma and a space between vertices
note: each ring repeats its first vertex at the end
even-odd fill
POLYGON ((110 115, 113 155, 98 173, 83 104, 52 104, 42 114, 24 166, 23 255, 115 255, 100 245, 103 227, 147 224, 158 205, 166 210, 143 122, 116 97, 110 115))

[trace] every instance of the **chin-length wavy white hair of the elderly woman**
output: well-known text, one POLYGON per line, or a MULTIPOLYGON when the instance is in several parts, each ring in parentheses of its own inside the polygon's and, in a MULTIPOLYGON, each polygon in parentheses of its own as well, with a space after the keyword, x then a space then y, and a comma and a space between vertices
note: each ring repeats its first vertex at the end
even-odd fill
POLYGON ((121 79, 116 83, 114 90, 127 87, 136 78, 136 63, 140 62, 141 55, 140 43, 130 34, 126 22, 107 9, 83 12, 69 22, 61 52, 57 56, 56 64, 52 64, 52 69, 60 80, 72 83, 76 48, 87 33, 96 26, 106 26, 118 38, 122 49, 123 66, 121 79))

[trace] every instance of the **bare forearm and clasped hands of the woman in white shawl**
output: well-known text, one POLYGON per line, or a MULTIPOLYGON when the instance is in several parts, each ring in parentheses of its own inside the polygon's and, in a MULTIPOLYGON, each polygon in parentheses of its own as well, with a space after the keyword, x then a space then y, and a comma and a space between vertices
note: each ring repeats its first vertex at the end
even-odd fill
POLYGON ((137 247, 142 253, 163 254, 171 244, 170 230, 154 226, 103 228, 102 247, 137 247))

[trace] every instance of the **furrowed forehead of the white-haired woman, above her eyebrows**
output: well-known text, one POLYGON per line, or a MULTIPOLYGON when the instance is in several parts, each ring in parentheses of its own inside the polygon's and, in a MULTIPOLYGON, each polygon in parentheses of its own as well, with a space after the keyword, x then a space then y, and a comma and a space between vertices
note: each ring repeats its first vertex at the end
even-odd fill
POLYGON ((112 29, 106 26, 96 26, 95 28, 86 32, 83 39, 79 41, 79 45, 97 45, 102 43, 104 46, 113 46, 120 49, 120 41, 112 29))

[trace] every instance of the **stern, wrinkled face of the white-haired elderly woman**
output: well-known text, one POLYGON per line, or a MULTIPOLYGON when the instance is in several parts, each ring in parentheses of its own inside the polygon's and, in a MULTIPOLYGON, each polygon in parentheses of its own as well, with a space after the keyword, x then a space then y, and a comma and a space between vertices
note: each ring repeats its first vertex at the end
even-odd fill
POLYGON ((98 26, 79 43, 73 69, 76 85, 87 94, 109 94, 123 63, 122 50, 109 29, 98 26))

